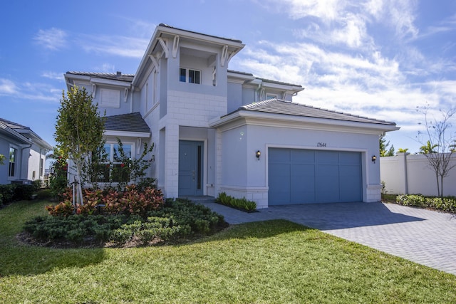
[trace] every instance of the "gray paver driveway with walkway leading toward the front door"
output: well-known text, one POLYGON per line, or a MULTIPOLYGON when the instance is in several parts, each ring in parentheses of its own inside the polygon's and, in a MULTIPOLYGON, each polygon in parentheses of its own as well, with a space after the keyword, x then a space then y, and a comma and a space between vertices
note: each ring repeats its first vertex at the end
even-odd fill
POLYGON ((251 214, 204 202, 229 224, 287 219, 456 275, 456 216, 397 204, 271 206, 251 214))

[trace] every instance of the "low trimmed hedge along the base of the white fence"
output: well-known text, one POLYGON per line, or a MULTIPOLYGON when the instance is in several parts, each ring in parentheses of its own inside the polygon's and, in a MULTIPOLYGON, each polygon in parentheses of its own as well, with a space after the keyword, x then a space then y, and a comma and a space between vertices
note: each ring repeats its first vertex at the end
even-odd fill
POLYGON ((423 196, 421 194, 398 195, 398 204, 403 206, 416 206, 420 208, 430 208, 445 212, 456 213, 456 197, 445 196, 443 199, 435 196, 423 196))

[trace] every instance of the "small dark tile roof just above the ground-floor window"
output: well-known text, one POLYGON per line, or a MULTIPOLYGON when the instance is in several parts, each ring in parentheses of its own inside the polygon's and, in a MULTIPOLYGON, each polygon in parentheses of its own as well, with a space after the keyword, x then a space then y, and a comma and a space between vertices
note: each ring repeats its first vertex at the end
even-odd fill
POLYGON ((149 133, 150 128, 140 112, 106 116, 105 130, 149 133))

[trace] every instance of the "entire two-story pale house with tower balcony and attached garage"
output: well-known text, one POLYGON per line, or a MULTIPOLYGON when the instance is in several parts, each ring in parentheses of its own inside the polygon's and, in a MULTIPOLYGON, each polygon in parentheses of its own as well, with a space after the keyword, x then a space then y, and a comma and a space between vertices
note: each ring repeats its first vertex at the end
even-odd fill
MULTIPOLYGON (((242 41, 157 26, 135 75, 67 72, 140 154, 167 197, 219 192, 274 204, 379 201, 378 138, 395 123, 292 102, 301 85, 228 69, 242 41)), ((112 155, 112 153, 110 154, 112 155)))

